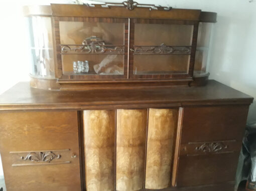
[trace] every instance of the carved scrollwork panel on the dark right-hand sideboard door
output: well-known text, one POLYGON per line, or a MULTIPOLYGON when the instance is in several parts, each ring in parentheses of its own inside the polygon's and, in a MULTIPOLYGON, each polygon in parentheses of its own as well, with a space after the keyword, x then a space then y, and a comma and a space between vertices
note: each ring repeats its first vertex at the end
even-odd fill
POLYGON ((231 153, 240 149, 240 142, 236 140, 189 142, 181 144, 180 155, 205 155, 231 153))

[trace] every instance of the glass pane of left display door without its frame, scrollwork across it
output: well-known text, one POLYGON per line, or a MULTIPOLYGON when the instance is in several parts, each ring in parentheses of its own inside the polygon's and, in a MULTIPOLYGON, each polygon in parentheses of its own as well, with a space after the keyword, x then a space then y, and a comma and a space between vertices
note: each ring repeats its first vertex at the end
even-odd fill
POLYGON ((60 42, 63 74, 123 75, 124 23, 60 21, 60 42), (72 68, 78 60, 88 61, 88 72, 72 68))

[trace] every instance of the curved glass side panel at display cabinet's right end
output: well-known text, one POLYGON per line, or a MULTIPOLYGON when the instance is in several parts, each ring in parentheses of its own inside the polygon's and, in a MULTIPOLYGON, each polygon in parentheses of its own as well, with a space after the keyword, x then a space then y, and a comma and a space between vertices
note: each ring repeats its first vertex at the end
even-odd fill
POLYGON ((213 23, 199 23, 194 76, 205 75, 208 73, 209 47, 211 44, 212 29, 213 23))

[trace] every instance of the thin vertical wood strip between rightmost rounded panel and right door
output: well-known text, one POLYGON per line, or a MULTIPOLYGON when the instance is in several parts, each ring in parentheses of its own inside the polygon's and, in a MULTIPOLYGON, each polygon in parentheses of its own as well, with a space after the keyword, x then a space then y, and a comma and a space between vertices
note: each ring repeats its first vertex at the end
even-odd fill
POLYGON ((177 171, 178 171, 178 164, 179 164, 179 154, 180 154, 180 142, 181 142, 181 133, 182 133, 183 113, 184 113, 184 108, 180 107, 179 108, 179 116, 178 116, 174 159, 173 159, 172 186, 176 186, 177 171))

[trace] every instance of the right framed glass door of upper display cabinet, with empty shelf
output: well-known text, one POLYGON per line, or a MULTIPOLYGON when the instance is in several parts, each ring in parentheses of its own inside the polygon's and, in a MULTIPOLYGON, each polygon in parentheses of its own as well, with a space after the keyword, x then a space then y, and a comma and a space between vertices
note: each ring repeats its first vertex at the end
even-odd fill
POLYGON ((195 24, 184 20, 132 19, 130 75, 134 78, 188 76, 192 47, 196 45, 192 40, 195 24))

